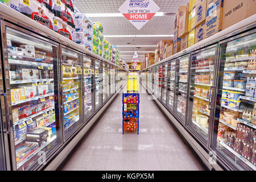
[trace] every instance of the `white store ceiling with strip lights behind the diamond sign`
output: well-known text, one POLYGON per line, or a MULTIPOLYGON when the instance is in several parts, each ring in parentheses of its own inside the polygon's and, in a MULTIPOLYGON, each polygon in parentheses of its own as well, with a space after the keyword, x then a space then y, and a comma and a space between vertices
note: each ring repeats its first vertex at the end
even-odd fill
MULTIPOLYGON (((76 8, 80 13, 119 13, 119 7, 125 0, 76 0, 76 8)), ((137 30, 124 16, 117 17, 89 17, 92 22, 100 22, 104 27, 104 35, 173 35, 174 34, 174 14, 179 6, 186 5, 189 0, 154 0, 160 7, 159 12, 168 13, 164 16, 154 16, 146 23, 141 30, 137 30)), ((114 46, 156 46, 162 39, 173 39, 173 37, 133 37, 133 38, 106 38, 114 46), (130 44, 127 44, 130 43, 130 44)), ((133 58, 136 47, 118 47, 123 56, 123 60, 133 58), (133 52, 122 52, 133 51, 133 52), (130 55, 130 56, 127 56, 130 55)), ((155 51, 156 47, 141 47, 137 51, 138 55, 144 55, 148 51, 155 51)), ((143 60, 139 56, 139 60, 143 60)))

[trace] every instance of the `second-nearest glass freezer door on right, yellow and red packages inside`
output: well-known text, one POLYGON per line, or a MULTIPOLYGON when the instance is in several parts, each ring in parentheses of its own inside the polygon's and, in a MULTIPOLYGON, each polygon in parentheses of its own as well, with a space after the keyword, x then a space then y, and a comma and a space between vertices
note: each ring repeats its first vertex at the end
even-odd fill
POLYGON ((191 53, 188 126, 207 143, 214 85, 216 46, 191 53))

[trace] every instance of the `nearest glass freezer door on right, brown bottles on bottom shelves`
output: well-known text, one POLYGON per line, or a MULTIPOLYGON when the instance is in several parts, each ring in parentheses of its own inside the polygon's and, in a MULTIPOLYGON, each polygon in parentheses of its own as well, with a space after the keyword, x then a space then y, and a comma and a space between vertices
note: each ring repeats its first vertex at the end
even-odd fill
POLYGON ((231 168, 255 171, 255 29, 246 34, 220 44, 211 147, 231 168))

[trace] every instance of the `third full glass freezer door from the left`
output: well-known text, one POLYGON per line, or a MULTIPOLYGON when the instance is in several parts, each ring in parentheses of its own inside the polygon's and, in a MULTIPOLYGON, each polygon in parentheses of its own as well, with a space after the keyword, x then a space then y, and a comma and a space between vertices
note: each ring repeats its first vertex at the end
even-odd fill
MULTIPOLYGON (((94 112, 94 66, 93 59, 84 55, 84 121, 94 112)), ((97 102, 95 102, 97 104, 97 102)))

